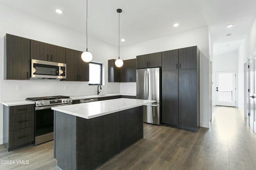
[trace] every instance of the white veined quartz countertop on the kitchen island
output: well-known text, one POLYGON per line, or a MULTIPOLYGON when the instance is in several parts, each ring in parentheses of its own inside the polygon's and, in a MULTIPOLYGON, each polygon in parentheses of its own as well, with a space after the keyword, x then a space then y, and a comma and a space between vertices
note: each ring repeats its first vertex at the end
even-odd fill
POLYGON ((82 104, 72 104, 66 106, 52 107, 52 110, 60 111, 70 115, 91 119, 118 111, 131 109, 138 106, 154 103, 154 100, 119 98, 112 100, 103 100, 98 102, 89 102, 82 104))

